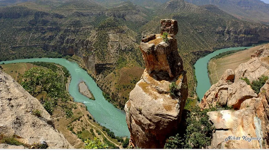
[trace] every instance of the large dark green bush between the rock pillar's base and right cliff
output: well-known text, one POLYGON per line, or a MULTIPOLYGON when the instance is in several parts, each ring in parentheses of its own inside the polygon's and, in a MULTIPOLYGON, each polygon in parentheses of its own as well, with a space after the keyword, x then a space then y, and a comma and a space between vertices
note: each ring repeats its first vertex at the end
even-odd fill
POLYGON ((217 108, 204 109, 199 106, 191 108, 187 114, 186 131, 169 137, 165 143, 165 149, 206 149, 211 144, 214 127, 208 122, 207 112, 217 108))

